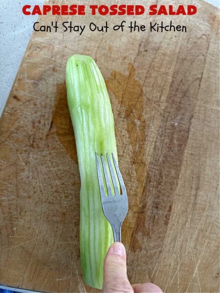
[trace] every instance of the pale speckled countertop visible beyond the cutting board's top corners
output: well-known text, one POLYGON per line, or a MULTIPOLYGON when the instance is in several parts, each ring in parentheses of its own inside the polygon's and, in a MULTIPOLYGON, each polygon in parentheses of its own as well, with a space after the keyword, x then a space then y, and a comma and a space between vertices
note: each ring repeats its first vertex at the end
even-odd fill
MULTIPOLYGON (((208 0, 219 7, 219 0, 208 0)), ((35 5, 43 5, 44 0, 35 0, 35 5)), ((33 31, 35 16, 24 16, 26 0, 0 0, 0 116, 16 77, 23 54, 33 31), (10 16, 9 16, 10 13, 10 16)))

